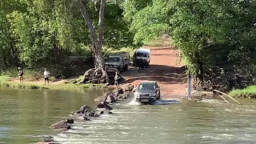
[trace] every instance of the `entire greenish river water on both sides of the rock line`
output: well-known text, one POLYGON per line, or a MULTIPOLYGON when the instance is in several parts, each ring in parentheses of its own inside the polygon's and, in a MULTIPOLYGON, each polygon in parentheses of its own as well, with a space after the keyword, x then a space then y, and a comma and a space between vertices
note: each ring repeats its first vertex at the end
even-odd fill
MULTIPOLYGON (((256 101, 242 106, 217 101, 182 100, 170 105, 135 105, 131 99, 114 104, 114 114, 92 122, 75 121, 74 130, 50 130, 70 111, 105 90, 0 89, 0 143, 26 144, 44 136, 65 143, 256 143, 256 101)), ((161 102, 158 102, 161 104, 161 102)))

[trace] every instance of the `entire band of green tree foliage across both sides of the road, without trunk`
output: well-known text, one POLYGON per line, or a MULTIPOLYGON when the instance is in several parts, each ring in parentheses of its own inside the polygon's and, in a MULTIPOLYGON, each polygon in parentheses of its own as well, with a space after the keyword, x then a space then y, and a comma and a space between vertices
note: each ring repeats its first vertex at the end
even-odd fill
MULTIPOLYGON (((90 33, 74 2, 0 1, 0 67, 62 65, 67 56, 90 52, 90 33)), ((96 27, 100 1, 82 2, 96 27)), ((170 34, 201 79, 255 73, 255 0, 108 0, 104 15, 103 50, 170 34)))

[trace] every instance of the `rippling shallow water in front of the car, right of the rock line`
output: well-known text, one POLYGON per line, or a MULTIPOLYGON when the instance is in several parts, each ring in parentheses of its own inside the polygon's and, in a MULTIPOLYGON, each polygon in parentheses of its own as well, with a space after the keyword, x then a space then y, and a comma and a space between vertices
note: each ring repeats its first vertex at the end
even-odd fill
POLYGON ((250 128, 256 123, 248 119, 252 115, 239 118, 253 110, 215 100, 201 102, 209 105, 177 103, 171 100, 160 100, 154 105, 124 102, 116 107, 114 114, 94 122, 75 123, 74 128, 78 130, 57 134, 54 138, 62 143, 256 142, 255 129, 250 128), (165 106, 167 103, 175 105, 165 106))

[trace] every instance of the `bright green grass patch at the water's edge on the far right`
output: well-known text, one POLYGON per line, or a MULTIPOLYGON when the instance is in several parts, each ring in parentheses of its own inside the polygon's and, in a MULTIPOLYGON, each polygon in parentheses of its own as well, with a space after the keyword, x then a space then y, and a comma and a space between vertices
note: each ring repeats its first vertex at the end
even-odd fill
POLYGON ((242 90, 231 90, 229 94, 232 97, 256 98, 256 86, 247 86, 242 90))

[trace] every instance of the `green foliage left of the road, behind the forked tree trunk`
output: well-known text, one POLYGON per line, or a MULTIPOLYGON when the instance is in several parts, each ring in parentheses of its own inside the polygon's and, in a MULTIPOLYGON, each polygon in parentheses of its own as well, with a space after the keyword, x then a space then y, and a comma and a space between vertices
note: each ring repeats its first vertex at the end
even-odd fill
MULTIPOLYGON (((96 3, 86 0, 86 9, 96 23, 96 3)), ((106 3, 105 48, 133 46, 122 12, 122 1, 106 3)), ((63 65, 67 56, 90 56, 90 45, 88 28, 74 1, 0 1, 0 68, 63 65)))

